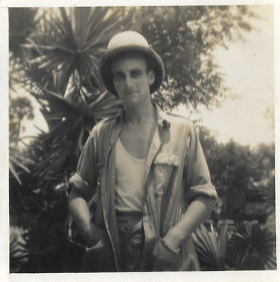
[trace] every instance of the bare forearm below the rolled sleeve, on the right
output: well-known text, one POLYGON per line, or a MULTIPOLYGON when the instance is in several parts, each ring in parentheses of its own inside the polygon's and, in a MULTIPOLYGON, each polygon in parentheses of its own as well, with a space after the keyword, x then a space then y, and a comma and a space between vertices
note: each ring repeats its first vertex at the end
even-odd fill
POLYGON ((199 196, 192 201, 177 225, 163 238, 172 250, 177 250, 183 241, 194 232, 214 208, 214 199, 199 196))

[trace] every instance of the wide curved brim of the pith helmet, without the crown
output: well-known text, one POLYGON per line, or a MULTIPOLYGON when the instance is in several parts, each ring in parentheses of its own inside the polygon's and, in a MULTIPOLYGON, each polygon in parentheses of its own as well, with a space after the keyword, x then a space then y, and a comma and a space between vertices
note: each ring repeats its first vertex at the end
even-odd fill
POLYGON ((155 92, 161 86, 161 83, 164 79, 164 66, 161 60, 161 57, 152 50, 152 48, 146 48, 143 46, 121 46, 118 48, 113 48, 112 50, 108 50, 99 61, 99 75, 103 82, 103 85, 106 89, 117 96, 117 91, 114 89, 114 81, 113 81, 113 74, 111 70, 111 63, 112 59, 121 54, 130 54, 130 52, 139 52, 142 53, 145 57, 148 58, 149 64, 152 66, 152 70, 154 70, 154 83, 150 85, 150 94, 155 92))

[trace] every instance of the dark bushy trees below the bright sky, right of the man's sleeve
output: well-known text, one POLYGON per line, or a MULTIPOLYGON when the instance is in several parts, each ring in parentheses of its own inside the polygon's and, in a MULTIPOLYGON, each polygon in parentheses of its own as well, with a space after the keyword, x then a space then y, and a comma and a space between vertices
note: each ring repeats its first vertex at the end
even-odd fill
POLYGON ((274 176, 271 175, 274 171, 274 145, 259 145, 251 150, 249 146, 232 140, 226 144, 217 143, 210 131, 202 126, 199 127, 199 139, 212 183, 223 198, 223 216, 233 219, 233 210, 244 208, 246 197, 257 193, 272 192, 267 196, 270 199, 263 197, 263 201, 274 206, 274 200, 271 201, 274 197, 274 176))

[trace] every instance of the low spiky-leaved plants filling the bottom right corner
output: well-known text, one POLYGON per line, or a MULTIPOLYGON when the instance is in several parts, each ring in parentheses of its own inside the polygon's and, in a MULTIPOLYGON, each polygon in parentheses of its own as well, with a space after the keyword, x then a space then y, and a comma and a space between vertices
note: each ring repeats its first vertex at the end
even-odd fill
POLYGON ((276 269, 275 234, 257 221, 243 221, 228 232, 223 221, 219 236, 211 225, 201 225, 192 234, 202 270, 274 270, 276 269))

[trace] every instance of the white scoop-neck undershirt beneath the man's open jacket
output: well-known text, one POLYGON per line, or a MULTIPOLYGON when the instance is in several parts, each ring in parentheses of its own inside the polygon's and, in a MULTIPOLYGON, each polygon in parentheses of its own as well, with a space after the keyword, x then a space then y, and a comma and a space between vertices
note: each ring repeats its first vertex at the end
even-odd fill
POLYGON ((116 145, 115 208, 120 212, 142 212, 146 159, 126 152, 119 138, 116 145))

